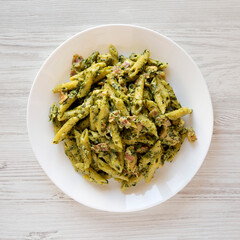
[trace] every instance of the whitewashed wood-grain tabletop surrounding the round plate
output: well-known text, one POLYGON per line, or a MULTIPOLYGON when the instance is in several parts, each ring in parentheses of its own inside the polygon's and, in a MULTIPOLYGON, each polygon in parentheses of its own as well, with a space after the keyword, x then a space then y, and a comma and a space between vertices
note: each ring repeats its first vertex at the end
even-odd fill
POLYGON ((240 1, 0 1, 0 239, 240 239, 240 1), (200 67, 214 134, 194 179, 149 210, 116 214, 63 194, 33 155, 27 99, 46 57, 64 40, 107 23, 145 26, 200 67))

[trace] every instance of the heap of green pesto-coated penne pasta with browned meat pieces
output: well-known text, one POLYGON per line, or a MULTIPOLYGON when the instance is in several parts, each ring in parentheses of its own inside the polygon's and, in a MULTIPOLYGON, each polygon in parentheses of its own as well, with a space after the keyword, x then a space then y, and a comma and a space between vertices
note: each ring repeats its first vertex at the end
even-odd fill
POLYGON ((166 81, 167 64, 150 52, 119 55, 93 52, 73 56, 70 81, 53 89, 59 104, 50 108, 55 137, 64 141, 74 169, 91 182, 107 184, 114 178, 122 191, 171 162, 187 137, 197 138, 184 126, 182 107, 166 81))

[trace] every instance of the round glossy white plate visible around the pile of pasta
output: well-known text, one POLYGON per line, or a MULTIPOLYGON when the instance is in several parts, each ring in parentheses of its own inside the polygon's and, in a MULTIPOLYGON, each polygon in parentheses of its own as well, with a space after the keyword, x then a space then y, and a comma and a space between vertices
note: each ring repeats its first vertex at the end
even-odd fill
POLYGON ((48 177, 76 201, 96 209, 130 212, 166 201, 180 191, 200 168, 210 145, 213 111, 207 85, 191 57, 169 38, 152 30, 131 25, 105 25, 76 34, 59 46, 45 61, 34 80, 28 101, 28 132, 33 151, 48 177), (53 126, 48 121, 49 107, 57 100, 51 89, 67 81, 72 56, 87 57, 93 51, 108 51, 110 44, 120 54, 141 53, 149 49, 151 57, 168 62, 167 81, 182 106, 193 108, 185 117, 193 126, 198 141, 185 140, 172 163, 157 171, 150 184, 139 183, 122 193, 117 182, 98 186, 76 173, 64 154, 63 144, 53 145, 53 126))

